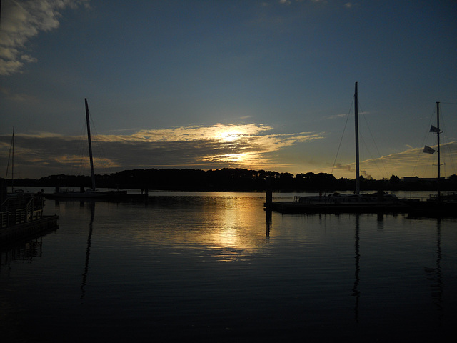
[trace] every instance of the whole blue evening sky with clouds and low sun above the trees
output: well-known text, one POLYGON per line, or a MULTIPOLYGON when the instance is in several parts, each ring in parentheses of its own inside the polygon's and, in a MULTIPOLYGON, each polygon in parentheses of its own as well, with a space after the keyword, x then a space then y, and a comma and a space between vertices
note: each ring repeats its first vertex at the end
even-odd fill
POLYGON ((457 1, 4 0, 0 177, 457 174, 457 1))

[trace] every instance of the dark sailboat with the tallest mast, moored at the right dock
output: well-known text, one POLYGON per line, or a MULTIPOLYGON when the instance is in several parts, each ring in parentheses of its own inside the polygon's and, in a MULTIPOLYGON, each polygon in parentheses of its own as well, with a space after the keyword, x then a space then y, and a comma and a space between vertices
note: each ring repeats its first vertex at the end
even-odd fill
MULTIPOLYGON (((267 201, 265 207, 280 212, 378 212, 380 210, 402 210, 407 205, 394 194, 379 191, 371 194, 360 192, 360 157, 358 149, 358 83, 355 84, 354 114, 356 138, 356 189, 353 194, 333 193, 326 196, 295 197, 293 202, 267 201)), ((268 198, 268 197, 267 197, 268 198)))

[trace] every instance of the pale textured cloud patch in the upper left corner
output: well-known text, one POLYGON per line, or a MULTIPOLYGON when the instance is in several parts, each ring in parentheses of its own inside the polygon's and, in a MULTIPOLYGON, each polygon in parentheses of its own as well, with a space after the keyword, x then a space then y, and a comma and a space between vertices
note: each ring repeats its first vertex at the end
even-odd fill
POLYGON ((26 54, 26 44, 40 31, 59 27, 60 12, 89 0, 6 0, 1 9, 0 75, 15 74, 36 58, 26 54))

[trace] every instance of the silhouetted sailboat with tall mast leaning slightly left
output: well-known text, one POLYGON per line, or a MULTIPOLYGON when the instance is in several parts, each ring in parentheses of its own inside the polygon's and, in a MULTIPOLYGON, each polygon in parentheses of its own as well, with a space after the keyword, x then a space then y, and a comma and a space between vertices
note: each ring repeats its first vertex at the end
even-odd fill
POLYGON ((86 126, 87 126, 87 141, 89 144, 89 160, 91 164, 91 188, 84 190, 81 187, 79 192, 66 191, 66 192, 55 192, 51 194, 51 198, 107 198, 107 197, 121 197, 127 194, 127 191, 99 191, 95 187, 95 174, 94 174, 94 157, 92 155, 92 141, 91 141, 91 126, 89 120, 89 105, 87 99, 84 99, 86 105, 86 126))

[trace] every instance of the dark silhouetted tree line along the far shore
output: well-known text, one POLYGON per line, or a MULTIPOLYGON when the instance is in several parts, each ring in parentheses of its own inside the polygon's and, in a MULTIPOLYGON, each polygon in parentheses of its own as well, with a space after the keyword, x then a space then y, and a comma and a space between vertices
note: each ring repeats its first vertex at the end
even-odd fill
MULTIPOLYGON (((134 169, 113 174, 96 175, 97 188, 157 189, 180 191, 243 191, 264 192, 333 192, 356 189, 356 180, 336 179, 327 173, 296 174, 265 170, 224 168, 200 169, 134 169)), ((9 180, 6 180, 9 184, 9 180)), ((91 187, 91 177, 84 175, 51 175, 41 179, 15 179, 14 184, 39 187, 91 187)), ((413 179, 404 181, 395 175, 390 179, 361 177, 361 190, 435 190, 436 180, 413 179)), ((457 190, 457 175, 441 179, 441 190, 457 190)))

